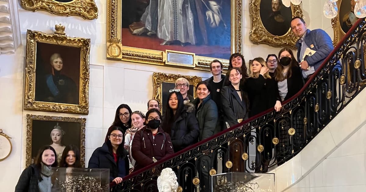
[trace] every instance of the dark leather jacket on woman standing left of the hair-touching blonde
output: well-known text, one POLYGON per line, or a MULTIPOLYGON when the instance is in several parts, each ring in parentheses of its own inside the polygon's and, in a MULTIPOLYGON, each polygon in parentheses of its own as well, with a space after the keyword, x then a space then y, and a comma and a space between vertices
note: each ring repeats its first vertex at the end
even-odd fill
POLYGON ((248 118, 248 95, 244 90, 240 89, 240 91, 242 100, 231 84, 221 89, 221 110, 224 114, 224 121, 230 127, 238 124, 238 119, 246 120, 248 118))

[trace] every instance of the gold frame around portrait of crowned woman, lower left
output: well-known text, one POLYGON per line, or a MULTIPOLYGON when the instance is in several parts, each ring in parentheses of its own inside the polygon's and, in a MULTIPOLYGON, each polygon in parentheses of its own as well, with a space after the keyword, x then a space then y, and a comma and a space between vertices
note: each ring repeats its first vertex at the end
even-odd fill
POLYGON ((75 117, 55 117, 55 116, 43 116, 27 114, 27 140, 26 140, 26 167, 32 162, 32 130, 33 120, 41 121, 63 121, 80 123, 80 165, 85 166, 85 123, 86 118, 75 117))

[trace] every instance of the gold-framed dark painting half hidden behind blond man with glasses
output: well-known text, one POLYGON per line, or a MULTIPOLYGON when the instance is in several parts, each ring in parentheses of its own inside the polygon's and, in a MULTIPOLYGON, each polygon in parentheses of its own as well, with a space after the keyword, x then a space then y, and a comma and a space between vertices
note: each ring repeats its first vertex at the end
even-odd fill
POLYGON ((153 98, 158 101, 160 112, 164 114, 164 108, 166 105, 166 99, 169 95, 169 90, 174 89, 175 80, 178 78, 186 78, 190 84, 190 89, 188 94, 195 97, 196 86, 202 81, 202 77, 190 76, 190 75, 179 75, 179 74, 166 74, 166 73, 153 73, 153 83, 154 83, 154 95, 153 98), (164 93, 163 93, 164 92, 164 93))

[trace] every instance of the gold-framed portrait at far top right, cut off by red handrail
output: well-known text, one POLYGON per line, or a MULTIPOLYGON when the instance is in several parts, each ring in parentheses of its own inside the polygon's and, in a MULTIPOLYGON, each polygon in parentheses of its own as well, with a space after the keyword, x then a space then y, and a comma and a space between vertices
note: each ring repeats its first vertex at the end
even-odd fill
POLYGON ((333 45, 336 46, 340 39, 346 35, 358 18, 354 14, 355 0, 339 0, 337 1, 338 15, 332 19, 334 31, 333 45))

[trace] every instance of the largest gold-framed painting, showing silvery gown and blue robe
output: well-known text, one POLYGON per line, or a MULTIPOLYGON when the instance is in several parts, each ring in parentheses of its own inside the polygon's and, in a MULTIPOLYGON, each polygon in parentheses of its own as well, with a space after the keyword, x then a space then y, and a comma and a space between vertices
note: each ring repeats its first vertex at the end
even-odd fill
POLYGON ((241 52, 242 0, 108 0, 107 6, 108 58, 164 65, 173 50, 194 53, 195 68, 209 70, 213 59, 228 64, 232 52, 241 52))

